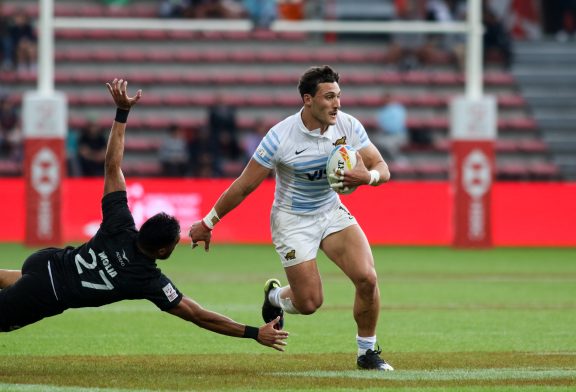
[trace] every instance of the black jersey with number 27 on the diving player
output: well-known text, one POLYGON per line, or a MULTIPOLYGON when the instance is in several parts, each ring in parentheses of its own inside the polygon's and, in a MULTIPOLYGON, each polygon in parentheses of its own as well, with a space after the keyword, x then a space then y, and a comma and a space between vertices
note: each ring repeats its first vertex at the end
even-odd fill
POLYGON ((125 191, 102 198, 102 224, 85 244, 57 253, 51 273, 65 307, 102 306, 125 299, 147 299, 161 310, 176 306, 182 294, 156 261, 136 247, 138 232, 125 191))

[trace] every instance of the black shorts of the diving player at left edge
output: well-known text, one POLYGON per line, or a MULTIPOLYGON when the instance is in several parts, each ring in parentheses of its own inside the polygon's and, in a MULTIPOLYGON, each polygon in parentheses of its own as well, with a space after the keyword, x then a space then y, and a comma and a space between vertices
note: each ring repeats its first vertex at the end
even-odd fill
POLYGON ((22 277, 0 290, 0 332, 13 331, 66 310, 56 298, 49 263, 59 249, 33 253, 22 266, 22 277))

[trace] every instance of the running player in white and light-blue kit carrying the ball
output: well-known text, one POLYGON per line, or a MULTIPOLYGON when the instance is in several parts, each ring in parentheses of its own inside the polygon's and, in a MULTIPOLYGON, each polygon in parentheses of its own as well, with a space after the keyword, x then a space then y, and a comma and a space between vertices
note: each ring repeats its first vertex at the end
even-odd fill
POLYGON ((272 240, 289 285, 269 279, 264 287, 265 321, 291 314, 312 314, 323 301, 316 264, 321 249, 356 288, 357 366, 393 370, 376 348, 380 309, 378 278, 370 244, 356 219, 328 184, 328 154, 348 144, 357 153, 352 170, 336 173, 341 187, 378 186, 390 179, 388 165, 354 117, 340 111, 339 75, 329 66, 312 67, 300 78, 302 109, 272 127, 242 174, 222 193, 212 210, 190 228, 192 246, 210 248, 211 231, 256 189, 272 170, 276 190, 271 212, 272 240))

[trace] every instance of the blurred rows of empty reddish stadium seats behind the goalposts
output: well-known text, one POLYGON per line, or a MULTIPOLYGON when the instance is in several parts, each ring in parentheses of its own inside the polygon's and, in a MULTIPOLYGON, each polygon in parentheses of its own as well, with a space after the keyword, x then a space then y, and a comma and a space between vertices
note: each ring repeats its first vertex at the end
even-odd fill
MULTIPOLYGON (((134 2, 111 11, 99 2, 58 2, 60 16, 155 16, 154 1, 134 2)), ((8 1, 37 12, 34 1, 8 1)), ((130 175, 160 173, 157 149, 166 129, 177 124, 199 129, 207 107, 218 95, 236 106, 242 132, 263 120, 272 125, 295 112, 300 100, 296 83, 311 65, 330 64, 341 75, 343 110, 358 117, 369 133, 383 91, 392 92, 408 109, 408 127, 428 132, 433 144, 409 145, 407 162, 391 162, 396 179, 447 179, 449 119, 447 103, 463 93, 464 77, 447 56, 417 69, 399 70, 389 61, 385 42, 339 40, 320 34, 252 32, 181 32, 58 30, 56 89, 68 96, 69 125, 83 127, 89 119, 109 126, 110 107, 103 84, 114 77, 142 88, 144 97, 130 120, 125 170, 130 175), (89 42, 89 45, 87 45, 89 42)), ((0 82, 16 98, 35 88, 35 75, 3 72, 0 82)), ((548 139, 542 138, 515 74, 498 63, 484 76, 487 94, 498 100, 497 177, 507 180, 561 178, 548 139)), ((18 167, 0 161, 2 175, 18 167)), ((238 170, 241 165, 232 165, 238 170)), ((235 175, 236 173, 225 173, 235 175)))

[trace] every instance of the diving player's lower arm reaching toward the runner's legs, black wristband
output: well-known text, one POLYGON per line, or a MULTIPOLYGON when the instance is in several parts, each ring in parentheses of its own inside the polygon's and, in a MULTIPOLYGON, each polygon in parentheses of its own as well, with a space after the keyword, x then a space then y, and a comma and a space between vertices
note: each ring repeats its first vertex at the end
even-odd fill
POLYGON ((186 296, 174 308, 168 310, 174 316, 190 321, 197 326, 222 335, 237 338, 252 338, 258 343, 284 351, 288 332, 274 329, 279 317, 260 328, 239 324, 236 321, 219 313, 204 309, 196 301, 186 296))

